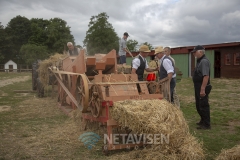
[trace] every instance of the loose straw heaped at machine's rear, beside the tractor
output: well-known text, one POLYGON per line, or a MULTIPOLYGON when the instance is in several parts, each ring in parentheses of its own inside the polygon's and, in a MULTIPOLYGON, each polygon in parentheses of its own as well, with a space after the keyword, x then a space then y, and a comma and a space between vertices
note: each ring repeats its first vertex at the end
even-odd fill
POLYGON ((51 56, 49 59, 46 59, 39 64, 38 68, 38 76, 40 77, 40 81, 43 86, 47 86, 49 82, 49 75, 50 72, 48 71, 48 67, 51 66, 58 66, 61 59, 66 58, 66 54, 59 54, 56 53, 55 55, 51 56))

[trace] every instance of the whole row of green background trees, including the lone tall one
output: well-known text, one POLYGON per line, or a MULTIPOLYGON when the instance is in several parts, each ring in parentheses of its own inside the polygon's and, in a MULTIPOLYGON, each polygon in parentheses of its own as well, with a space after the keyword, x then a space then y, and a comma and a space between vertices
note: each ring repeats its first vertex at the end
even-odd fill
MULTIPOLYGON (((108 18, 105 12, 90 18, 83 41, 88 55, 106 54, 112 49, 118 52, 122 37, 117 36, 108 18)), ((62 53, 67 42, 74 43, 74 37, 66 21, 60 18, 29 20, 19 15, 12 18, 6 27, 0 22, 0 64, 9 59, 18 64, 31 64, 56 52, 62 53)), ((148 42, 142 44, 153 48, 148 42)), ((130 39, 127 46, 130 51, 137 51, 138 42, 130 39)))

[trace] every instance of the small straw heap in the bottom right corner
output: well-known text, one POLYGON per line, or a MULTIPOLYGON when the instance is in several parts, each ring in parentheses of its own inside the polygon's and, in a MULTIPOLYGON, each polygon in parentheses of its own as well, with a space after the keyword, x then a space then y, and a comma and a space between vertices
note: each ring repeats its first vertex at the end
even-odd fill
POLYGON ((240 145, 236 145, 231 149, 223 149, 217 156, 216 160, 239 160, 240 159, 240 145))

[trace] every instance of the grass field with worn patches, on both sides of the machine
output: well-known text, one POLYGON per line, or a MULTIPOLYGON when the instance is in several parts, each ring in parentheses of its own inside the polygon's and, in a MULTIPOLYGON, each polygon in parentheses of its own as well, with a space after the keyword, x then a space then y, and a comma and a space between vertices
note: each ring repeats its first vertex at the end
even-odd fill
MULTIPOLYGON (((211 130, 196 129, 199 116, 191 79, 177 84, 181 110, 191 133, 203 141, 207 159, 214 159, 222 148, 240 144, 240 80, 213 79, 211 83, 211 130)), ((57 107, 50 87, 47 97, 41 99, 35 93, 13 92, 30 90, 31 85, 29 73, 0 73, 0 160, 108 158, 102 154, 101 144, 88 150, 78 141, 82 132, 57 107)))

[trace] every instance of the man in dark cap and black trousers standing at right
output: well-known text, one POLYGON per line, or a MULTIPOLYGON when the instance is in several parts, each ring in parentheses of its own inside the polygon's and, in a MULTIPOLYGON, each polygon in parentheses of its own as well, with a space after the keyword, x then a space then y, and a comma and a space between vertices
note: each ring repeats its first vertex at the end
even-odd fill
POLYGON ((195 90, 195 101, 197 112, 201 120, 197 123, 197 129, 211 129, 210 125, 210 106, 208 103, 208 95, 211 92, 210 85, 210 62, 205 56, 203 46, 194 47, 191 51, 197 58, 196 68, 193 73, 193 83, 195 90))

